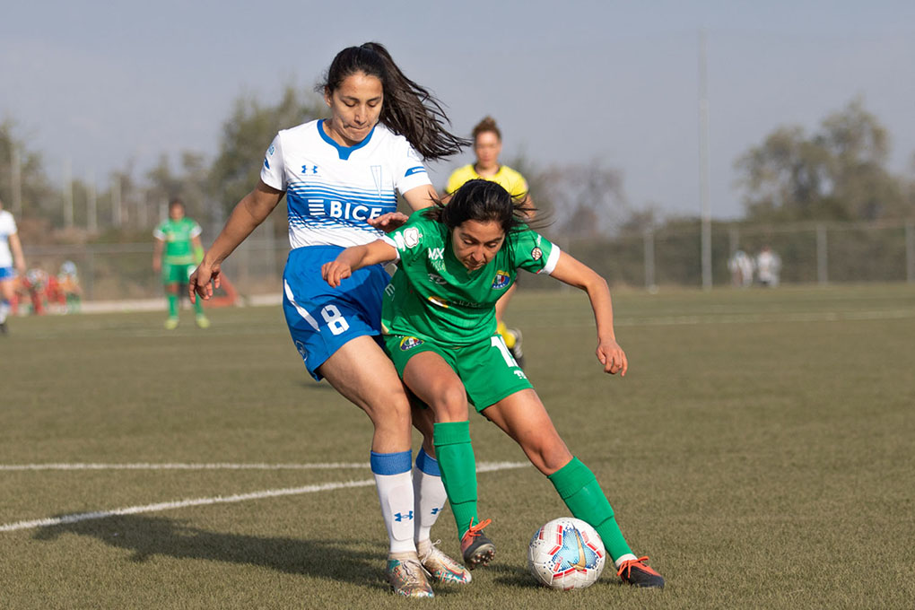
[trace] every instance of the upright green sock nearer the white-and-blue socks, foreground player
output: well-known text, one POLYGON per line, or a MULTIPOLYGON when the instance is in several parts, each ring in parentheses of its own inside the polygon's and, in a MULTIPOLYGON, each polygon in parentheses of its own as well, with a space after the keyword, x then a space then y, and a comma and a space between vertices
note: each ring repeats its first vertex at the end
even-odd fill
POLYGON ((469 422, 436 423, 433 433, 438 469, 451 504, 458 538, 470 529, 470 521, 479 523, 477 516, 477 460, 470 444, 469 422))

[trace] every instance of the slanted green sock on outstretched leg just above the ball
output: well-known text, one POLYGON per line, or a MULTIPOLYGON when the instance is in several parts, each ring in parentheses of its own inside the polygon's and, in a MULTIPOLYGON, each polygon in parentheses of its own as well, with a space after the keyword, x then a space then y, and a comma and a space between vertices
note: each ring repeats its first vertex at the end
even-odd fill
POLYGON ((632 552, 623 538, 623 532, 619 531, 617 519, 613 518, 613 508, 597 478, 577 457, 547 478, 559 497, 563 498, 565 506, 572 511, 572 516, 586 521, 597 530, 611 559, 616 561, 618 557, 632 552))

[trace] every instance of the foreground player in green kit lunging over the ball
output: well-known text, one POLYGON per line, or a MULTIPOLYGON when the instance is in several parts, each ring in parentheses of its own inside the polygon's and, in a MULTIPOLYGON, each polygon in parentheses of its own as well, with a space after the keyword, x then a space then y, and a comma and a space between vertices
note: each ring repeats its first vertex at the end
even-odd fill
POLYGON ((530 230, 527 218, 504 188, 470 180, 447 206, 415 212, 382 240, 347 248, 321 273, 339 286, 365 265, 400 260, 382 305, 384 340, 404 383, 435 413, 434 450, 468 566, 485 565, 495 551, 480 531, 489 519, 480 523, 477 513, 469 399, 521 445, 572 514, 597 530, 624 582, 660 588, 661 574, 631 551, 597 478, 565 446, 496 331, 495 304, 516 270, 549 273, 587 293, 604 370, 625 375, 628 368, 607 282, 530 230))

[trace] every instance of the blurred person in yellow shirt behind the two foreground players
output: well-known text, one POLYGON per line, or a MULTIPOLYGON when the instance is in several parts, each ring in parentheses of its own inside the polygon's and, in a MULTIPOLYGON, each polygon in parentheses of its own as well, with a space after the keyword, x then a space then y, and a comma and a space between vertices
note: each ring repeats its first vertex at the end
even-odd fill
MULTIPOLYGON (((513 198, 526 199, 525 207, 533 209, 533 199, 528 192, 527 181, 511 167, 503 166, 499 163, 499 155, 502 152, 502 134, 499 131, 499 126, 496 125, 495 119, 491 116, 484 118, 473 128, 472 135, 473 153, 477 155, 477 162, 458 167, 451 173, 445 187, 445 201, 447 202, 448 198, 468 180, 483 178, 497 183, 507 190, 513 198)), ((496 303, 496 320, 499 324, 499 334, 505 340, 505 345, 511 351, 511 356, 514 357, 519 366, 523 367, 524 353, 521 347, 521 331, 517 328, 505 326, 504 319, 505 309, 508 307, 511 295, 514 294, 517 287, 517 283, 511 284, 511 288, 496 303)))

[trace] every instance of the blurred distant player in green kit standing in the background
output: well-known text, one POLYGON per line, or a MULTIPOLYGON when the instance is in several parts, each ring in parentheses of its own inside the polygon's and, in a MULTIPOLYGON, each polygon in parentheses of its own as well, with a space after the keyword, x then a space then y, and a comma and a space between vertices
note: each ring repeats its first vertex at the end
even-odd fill
MULTIPOLYGON (((175 198, 168 202, 168 219, 156 230, 153 249, 153 271, 162 273, 162 284, 166 288, 168 299, 168 317, 166 328, 178 327, 178 288, 188 284, 188 277, 203 258, 203 245, 200 243, 200 225, 185 216, 184 203, 175 198)), ((193 302, 195 319, 200 328, 209 328, 210 320, 203 315, 203 305, 197 299, 193 302)))

